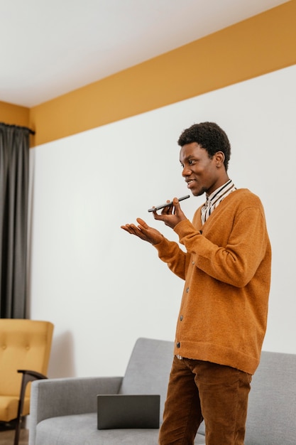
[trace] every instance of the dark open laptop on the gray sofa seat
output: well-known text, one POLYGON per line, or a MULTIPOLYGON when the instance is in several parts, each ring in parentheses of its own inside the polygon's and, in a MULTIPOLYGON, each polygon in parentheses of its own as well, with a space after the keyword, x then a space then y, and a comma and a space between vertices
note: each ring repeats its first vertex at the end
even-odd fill
POLYGON ((97 395, 97 428, 159 428, 160 395, 97 395))

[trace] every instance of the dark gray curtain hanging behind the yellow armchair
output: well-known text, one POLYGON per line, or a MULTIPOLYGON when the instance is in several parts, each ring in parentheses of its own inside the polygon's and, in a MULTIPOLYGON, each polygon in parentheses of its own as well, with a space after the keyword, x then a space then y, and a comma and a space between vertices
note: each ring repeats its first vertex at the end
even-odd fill
POLYGON ((26 318, 30 132, 0 123, 0 318, 26 318))

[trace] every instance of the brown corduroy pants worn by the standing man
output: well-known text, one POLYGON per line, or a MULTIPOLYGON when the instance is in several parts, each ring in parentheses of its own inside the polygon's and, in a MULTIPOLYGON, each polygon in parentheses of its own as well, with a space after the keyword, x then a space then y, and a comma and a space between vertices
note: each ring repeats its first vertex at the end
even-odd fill
POLYGON ((202 360, 174 358, 160 445, 193 445, 204 419, 207 445, 243 445, 251 375, 202 360))

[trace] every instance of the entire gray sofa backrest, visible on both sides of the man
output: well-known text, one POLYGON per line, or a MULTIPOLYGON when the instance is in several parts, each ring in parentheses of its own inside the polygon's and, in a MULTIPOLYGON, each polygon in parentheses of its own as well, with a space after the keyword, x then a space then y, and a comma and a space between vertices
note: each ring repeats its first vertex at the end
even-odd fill
MULTIPOLYGON (((119 390, 121 394, 160 394, 160 419, 173 347, 170 341, 138 338, 119 390)), ((295 445, 295 414, 296 354, 263 351, 251 382, 245 445, 295 445)))

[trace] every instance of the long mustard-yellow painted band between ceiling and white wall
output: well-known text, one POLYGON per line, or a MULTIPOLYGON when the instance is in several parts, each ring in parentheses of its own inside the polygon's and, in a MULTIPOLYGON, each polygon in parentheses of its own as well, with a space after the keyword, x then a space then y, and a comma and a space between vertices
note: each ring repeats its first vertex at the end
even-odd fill
MULTIPOLYGON (((296 63, 296 0, 30 109, 33 144, 296 63)), ((0 109, 1 110, 1 109, 0 109)))

